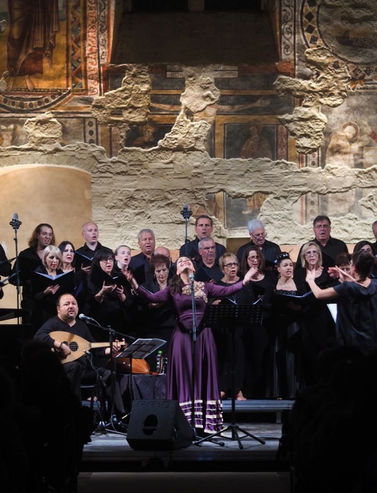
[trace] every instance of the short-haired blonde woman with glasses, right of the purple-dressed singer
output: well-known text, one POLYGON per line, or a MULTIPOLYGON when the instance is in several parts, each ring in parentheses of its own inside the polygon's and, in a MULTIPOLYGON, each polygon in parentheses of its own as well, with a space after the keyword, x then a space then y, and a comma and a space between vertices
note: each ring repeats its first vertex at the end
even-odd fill
MULTIPOLYGON (((230 286, 240 281, 239 275, 239 261, 236 255, 233 253, 224 253, 219 258, 219 267, 221 272, 224 273, 224 277, 220 281, 216 281, 218 286, 230 286)), ((237 304, 237 305, 249 305, 254 301, 254 297, 251 292, 244 286, 237 293, 220 298, 213 302, 213 304, 237 304)), ((230 329, 224 327, 223 329, 217 329, 214 337, 217 347, 217 356, 219 361, 219 386, 221 398, 224 398, 232 388, 232 354, 233 354, 233 338, 232 332, 234 330, 234 355, 235 355, 235 392, 237 400, 246 400, 243 395, 242 389, 244 388, 245 378, 245 340, 244 333, 245 327, 235 327, 230 329)))

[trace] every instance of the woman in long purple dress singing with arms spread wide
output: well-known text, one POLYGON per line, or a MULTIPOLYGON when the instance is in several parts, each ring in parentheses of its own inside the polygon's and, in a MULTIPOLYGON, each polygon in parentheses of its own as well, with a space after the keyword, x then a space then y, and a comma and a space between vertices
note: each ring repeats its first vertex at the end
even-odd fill
POLYGON ((228 287, 216 286, 209 282, 192 281, 195 266, 188 257, 179 257, 176 275, 170 285, 157 293, 150 293, 139 287, 131 272, 125 276, 137 293, 151 303, 172 301, 177 321, 171 337, 168 356, 167 398, 177 400, 191 423, 192 398, 195 402, 195 423, 204 433, 219 431, 222 427, 222 408, 217 382, 217 355, 212 331, 204 326, 204 312, 208 297, 231 296, 242 289, 255 274, 251 268, 243 281, 228 287), (195 294, 196 326, 198 328, 193 361, 191 330, 193 328, 191 285, 195 294), (194 389, 192 394, 192 382, 194 389))

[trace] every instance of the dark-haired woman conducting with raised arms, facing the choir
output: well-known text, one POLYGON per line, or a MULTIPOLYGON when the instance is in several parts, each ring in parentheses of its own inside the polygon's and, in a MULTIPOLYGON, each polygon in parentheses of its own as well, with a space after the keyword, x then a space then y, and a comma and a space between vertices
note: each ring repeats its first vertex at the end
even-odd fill
POLYGON ((312 271, 308 270, 306 277, 316 298, 342 298, 343 302, 338 304, 338 344, 356 346, 364 353, 377 348, 377 280, 368 277, 375 262, 368 252, 353 253, 350 275, 334 267, 341 284, 327 289, 316 285, 312 271))

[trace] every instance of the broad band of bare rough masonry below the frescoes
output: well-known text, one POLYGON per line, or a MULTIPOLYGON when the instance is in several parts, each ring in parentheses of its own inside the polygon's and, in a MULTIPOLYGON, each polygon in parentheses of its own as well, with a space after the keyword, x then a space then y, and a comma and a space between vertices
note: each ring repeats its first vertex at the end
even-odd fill
MULTIPOLYGON (((208 192, 219 190, 226 190, 235 198, 258 191, 268 194, 261 217, 269 238, 280 244, 303 243, 312 237, 311 224, 292 221, 292 210, 308 192, 325 194, 360 187, 369 193, 362 204, 370 214, 368 219, 360 221, 346 215, 333 226, 334 236, 348 243, 365 238, 377 215, 376 166, 349 170, 344 177, 336 166, 298 169, 294 163, 284 161, 211 159, 205 151, 160 148, 125 148, 109 159, 103 148, 85 143, 55 144, 44 149, 28 144, 0 149, 0 156, 1 166, 48 163, 89 172, 93 219, 99 223, 101 242, 110 247, 126 243, 137 248, 137 232, 141 227, 150 227, 156 232, 158 245, 178 248, 184 237, 182 204, 204 204, 208 192)), ((56 204, 59 206, 64 207, 64 203, 56 204)), ((215 221, 214 236, 225 244, 228 232, 219 221, 215 221)))

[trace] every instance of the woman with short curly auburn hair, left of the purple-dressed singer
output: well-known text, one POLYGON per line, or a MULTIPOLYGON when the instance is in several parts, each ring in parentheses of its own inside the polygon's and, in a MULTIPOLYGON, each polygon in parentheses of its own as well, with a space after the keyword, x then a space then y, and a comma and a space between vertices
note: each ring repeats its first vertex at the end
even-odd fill
MULTIPOLYGON (((141 286, 151 293, 157 293, 168 285, 170 258, 155 254, 152 255, 149 265, 151 272, 153 272, 153 280, 144 282, 141 286)), ((167 341, 167 344, 161 348, 164 352, 168 352, 174 325, 174 310, 171 303, 143 303, 141 312, 142 337, 167 341)), ((151 371, 155 371, 156 354, 151 354, 146 359, 151 371)))

